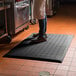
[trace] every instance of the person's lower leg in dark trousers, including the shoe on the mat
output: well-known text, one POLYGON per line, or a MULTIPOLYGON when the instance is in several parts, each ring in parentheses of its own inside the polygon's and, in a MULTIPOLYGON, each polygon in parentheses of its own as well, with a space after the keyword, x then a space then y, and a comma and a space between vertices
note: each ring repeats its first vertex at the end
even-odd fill
POLYGON ((35 34, 37 37, 36 40, 32 40, 35 43, 40 43, 46 41, 47 35, 46 35, 46 26, 47 26, 47 19, 40 19, 39 21, 39 33, 35 34))

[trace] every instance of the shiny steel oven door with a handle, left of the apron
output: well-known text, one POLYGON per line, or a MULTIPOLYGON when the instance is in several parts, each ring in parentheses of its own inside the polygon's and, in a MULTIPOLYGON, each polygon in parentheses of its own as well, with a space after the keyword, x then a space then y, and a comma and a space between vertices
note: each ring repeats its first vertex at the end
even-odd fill
POLYGON ((16 4, 14 8, 15 29, 18 29, 29 21, 29 4, 16 4))

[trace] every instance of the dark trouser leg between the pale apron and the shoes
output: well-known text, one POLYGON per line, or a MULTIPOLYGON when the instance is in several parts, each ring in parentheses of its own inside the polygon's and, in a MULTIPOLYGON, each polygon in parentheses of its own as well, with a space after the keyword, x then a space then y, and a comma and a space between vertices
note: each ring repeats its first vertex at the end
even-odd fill
POLYGON ((44 36, 46 34, 47 29, 47 18, 45 19, 39 19, 39 36, 44 36))

